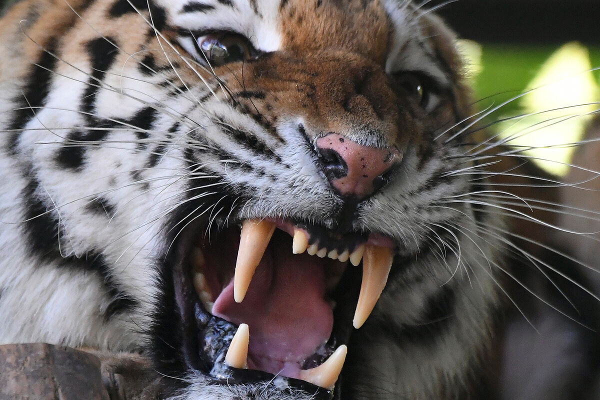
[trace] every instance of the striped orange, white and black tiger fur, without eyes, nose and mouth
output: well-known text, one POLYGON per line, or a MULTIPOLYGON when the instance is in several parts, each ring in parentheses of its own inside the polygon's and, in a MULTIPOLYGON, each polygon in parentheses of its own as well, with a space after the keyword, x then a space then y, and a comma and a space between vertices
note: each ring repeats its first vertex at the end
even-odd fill
POLYGON ((181 368, 169 326, 187 224, 285 216, 398 244, 336 396, 487 396, 511 274, 498 232, 520 226, 478 194, 515 166, 469 160, 481 138, 437 17, 404 0, 22 0, 0 38, 0 342, 154 354, 178 399, 308 399, 181 368), (262 55, 210 67, 192 35, 211 31, 262 55), (435 82, 432 110, 394 88, 403 71, 435 82), (328 132, 404 155, 351 217, 311 153, 328 132))

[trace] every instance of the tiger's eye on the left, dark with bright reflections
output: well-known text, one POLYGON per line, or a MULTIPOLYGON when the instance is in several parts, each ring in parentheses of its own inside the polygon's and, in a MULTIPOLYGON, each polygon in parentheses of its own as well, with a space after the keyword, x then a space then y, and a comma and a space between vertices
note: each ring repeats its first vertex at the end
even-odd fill
POLYGON ((251 57, 253 48, 242 35, 233 33, 206 35, 199 41, 200 50, 215 67, 251 57))

